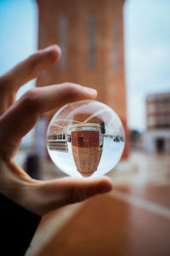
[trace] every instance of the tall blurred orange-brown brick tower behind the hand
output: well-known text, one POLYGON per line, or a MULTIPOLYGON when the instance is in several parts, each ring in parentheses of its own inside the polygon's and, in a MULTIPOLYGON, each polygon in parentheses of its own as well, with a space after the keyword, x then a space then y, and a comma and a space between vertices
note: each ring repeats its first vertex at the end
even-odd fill
POLYGON ((39 75, 37 86, 70 81, 95 88, 97 100, 115 109, 127 129, 123 3, 37 0, 38 48, 59 44, 62 50, 59 63, 39 75))

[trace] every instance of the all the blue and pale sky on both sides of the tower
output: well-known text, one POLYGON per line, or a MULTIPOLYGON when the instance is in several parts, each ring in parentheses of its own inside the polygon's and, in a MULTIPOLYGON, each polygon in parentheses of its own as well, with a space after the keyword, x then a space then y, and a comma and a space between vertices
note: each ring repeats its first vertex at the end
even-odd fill
MULTIPOLYGON (((145 97, 170 91, 170 0, 127 0, 123 13, 127 122, 144 131, 145 97)), ((36 1, 0 0, 0 44, 0 75, 36 51, 36 1)))

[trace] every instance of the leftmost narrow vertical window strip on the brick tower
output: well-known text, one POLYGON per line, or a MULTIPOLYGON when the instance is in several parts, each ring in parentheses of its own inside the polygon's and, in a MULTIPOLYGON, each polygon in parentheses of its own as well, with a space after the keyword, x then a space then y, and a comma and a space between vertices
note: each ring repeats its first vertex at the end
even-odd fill
POLYGON ((68 19, 64 15, 59 16, 59 47, 61 48, 61 58, 59 60, 59 69, 64 70, 66 67, 66 55, 67 55, 67 30, 68 19))

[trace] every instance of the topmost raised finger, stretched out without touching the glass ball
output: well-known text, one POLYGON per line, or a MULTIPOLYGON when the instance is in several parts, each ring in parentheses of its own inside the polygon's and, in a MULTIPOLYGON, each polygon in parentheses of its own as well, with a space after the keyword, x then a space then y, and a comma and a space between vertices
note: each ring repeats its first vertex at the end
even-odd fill
POLYGON ((37 77, 42 69, 58 61, 60 55, 57 45, 38 50, 0 77, 0 90, 18 90, 21 85, 37 77))

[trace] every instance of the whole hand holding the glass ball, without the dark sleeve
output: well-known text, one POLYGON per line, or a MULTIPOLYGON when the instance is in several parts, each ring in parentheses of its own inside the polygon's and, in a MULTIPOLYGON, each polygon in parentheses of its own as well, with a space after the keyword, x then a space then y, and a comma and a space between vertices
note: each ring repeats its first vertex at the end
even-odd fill
POLYGON ((90 88, 65 83, 33 88, 15 102, 20 86, 58 61, 59 56, 60 49, 56 45, 39 50, 0 77, 0 193, 38 215, 112 189, 108 177, 91 181, 72 177, 37 181, 14 163, 13 158, 22 137, 31 130, 42 113, 67 102, 93 100, 97 95, 90 88))

